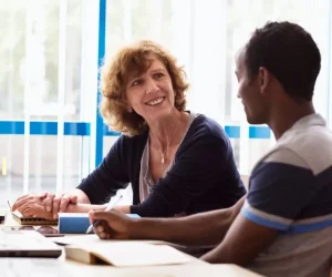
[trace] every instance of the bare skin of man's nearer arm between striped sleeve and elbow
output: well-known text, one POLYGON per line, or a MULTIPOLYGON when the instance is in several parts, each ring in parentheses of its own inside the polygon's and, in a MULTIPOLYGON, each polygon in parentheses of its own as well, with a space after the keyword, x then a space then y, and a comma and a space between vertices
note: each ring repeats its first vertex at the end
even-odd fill
POLYGON ((239 214, 224 240, 201 259, 212 264, 247 266, 273 242, 278 232, 258 225, 239 214))

